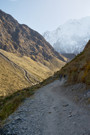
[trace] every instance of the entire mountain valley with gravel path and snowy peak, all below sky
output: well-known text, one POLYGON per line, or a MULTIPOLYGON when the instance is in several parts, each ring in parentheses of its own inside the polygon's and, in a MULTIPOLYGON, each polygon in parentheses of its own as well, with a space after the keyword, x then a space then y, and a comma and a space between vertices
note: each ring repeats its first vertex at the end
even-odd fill
POLYGON ((71 20, 46 41, 0 10, 0 135, 90 135, 89 26, 71 20))

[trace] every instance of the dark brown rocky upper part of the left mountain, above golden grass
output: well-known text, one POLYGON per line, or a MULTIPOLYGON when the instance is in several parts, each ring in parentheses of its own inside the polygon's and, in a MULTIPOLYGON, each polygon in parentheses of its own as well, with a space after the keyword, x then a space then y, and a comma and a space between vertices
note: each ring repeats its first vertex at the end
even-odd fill
POLYGON ((36 31, 19 24, 12 16, 0 11, 0 49, 26 55, 35 61, 54 57, 64 61, 51 45, 36 31))

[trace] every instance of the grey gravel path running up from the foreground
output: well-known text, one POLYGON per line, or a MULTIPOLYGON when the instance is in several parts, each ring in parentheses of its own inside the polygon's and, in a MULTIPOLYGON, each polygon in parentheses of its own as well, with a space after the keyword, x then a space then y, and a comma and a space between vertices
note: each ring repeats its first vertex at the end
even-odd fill
POLYGON ((12 114, 5 135, 90 135, 90 113, 61 92, 60 81, 39 89, 12 114))

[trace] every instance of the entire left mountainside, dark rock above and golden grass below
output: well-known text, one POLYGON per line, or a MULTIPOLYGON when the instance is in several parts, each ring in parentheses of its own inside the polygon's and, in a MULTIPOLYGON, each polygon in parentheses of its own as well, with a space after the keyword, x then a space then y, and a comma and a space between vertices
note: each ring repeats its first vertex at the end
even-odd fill
POLYGON ((43 81, 65 61, 38 32, 0 10, 0 96, 43 81))

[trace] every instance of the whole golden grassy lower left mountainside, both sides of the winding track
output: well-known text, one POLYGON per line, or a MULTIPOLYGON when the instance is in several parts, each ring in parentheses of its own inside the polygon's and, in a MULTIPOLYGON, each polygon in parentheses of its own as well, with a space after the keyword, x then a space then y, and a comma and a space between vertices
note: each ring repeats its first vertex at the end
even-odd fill
POLYGON ((64 62, 58 62, 57 60, 55 63, 57 67, 55 67, 53 63, 56 59, 53 59, 47 62, 47 66, 44 66, 40 62, 33 61, 27 56, 20 57, 16 54, 3 51, 2 49, 0 49, 0 52, 20 67, 14 66, 0 55, 0 96, 6 96, 17 90, 43 81, 53 75, 54 71, 59 70, 59 67, 64 65, 64 62), (30 82, 25 78, 22 69, 27 71, 30 82))

